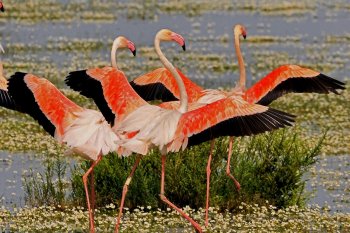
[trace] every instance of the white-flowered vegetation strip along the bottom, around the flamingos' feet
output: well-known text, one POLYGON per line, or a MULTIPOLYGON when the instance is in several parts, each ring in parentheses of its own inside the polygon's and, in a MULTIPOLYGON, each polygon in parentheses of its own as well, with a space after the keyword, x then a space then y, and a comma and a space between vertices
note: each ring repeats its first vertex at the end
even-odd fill
MULTIPOLYGON (((203 226, 204 210, 183 209, 203 226)), ((116 206, 107 205, 96 210, 97 232, 111 232, 115 227, 116 206)), ((277 210, 266 206, 241 203, 237 213, 209 209, 209 226, 205 232, 348 232, 350 216, 330 214, 329 208, 318 206, 298 208, 290 206, 277 210)), ((61 206, 39 208, 0 209, 0 229, 10 232, 85 232, 88 231, 88 212, 82 207, 61 209, 61 206)), ((193 232, 188 222, 169 208, 165 211, 152 207, 125 209, 122 232, 193 232)))

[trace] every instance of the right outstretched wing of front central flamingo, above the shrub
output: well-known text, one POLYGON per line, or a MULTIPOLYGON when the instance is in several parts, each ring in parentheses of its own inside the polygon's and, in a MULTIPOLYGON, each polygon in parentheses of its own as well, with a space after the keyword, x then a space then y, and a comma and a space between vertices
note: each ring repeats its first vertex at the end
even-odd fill
POLYGON ((218 100, 180 118, 171 151, 220 136, 248 136, 291 126, 294 116, 266 106, 231 98, 218 100))

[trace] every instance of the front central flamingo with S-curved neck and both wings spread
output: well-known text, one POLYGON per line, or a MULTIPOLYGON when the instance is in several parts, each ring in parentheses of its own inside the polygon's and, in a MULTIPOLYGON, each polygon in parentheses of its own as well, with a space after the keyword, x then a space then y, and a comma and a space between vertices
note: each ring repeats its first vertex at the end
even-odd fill
MULTIPOLYGON (((165 196, 166 154, 169 151, 177 152, 180 149, 185 149, 187 146, 199 144, 219 136, 250 135, 252 133, 285 127, 291 125, 293 116, 265 106, 248 104, 239 97, 236 101, 233 101, 236 97, 227 98, 187 112, 188 99, 185 85, 173 65, 162 53, 160 41, 175 41, 183 48, 185 48, 185 41, 181 35, 169 29, 160 30, 154 40, 156 53, 162 64, 173 74, 176 84, 179 85, 180 107, 178 109, 169 110, 148 104, 137 95, 126 77, 118 74, 120 71, 116 69, 113 73, 106 73, 103 70, 97 69, 94 69, 94 72, 89 70, 71 72, 66 79, 66 83, 74 90, 80 91, 86 96, 92 96, 88 92, 96 92, 97 90, 92 89, 96 89, 96 86, 98 86, 97 82, 100 82, 99 85, 102 86, 102 92, 108 103, 107 105, 115 114, 115 118, 121 119, 115 122, 113 129, 118 134, 133 135, 132 138, 119 141, 121 142, 121 146, 141 155, 146 155, 153 147, 159 148, 162 154, 161 200, 178 211, 197 231, 202 232, 197 222, 171 203, 165 196), (73 81, 75 78, 76 80, 86 79, 86 85, 78 84, 78 81, 73 81), (263 124, 257 125, 257 121, 261 121, 263 124)), ((97 105, 101 104, 97 99, 95 103, 97 105)), ((138 163, 139 160, 135 162, 123 188, 115 229, 116 232, 119 230, 127 186, 131 182, 138 163)))

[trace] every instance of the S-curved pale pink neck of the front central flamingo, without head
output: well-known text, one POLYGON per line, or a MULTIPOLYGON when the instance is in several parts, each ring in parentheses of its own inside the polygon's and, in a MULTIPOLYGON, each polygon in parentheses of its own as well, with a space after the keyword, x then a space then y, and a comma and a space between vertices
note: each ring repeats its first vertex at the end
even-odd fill
POLYGON ((157 36, 154 39, 154 47, 156 48, 156 53, 158 54, 160 61, 163 63, 164 67, 170 71, 170 73, 173 75, 173 77, 176 80, 176 83, 180 90, 180 107, 178 111, 181 113, 185 113, 187 112, 187 109, 188 109, 188 97, 187 97, 185 84, 182 81, 179 73, 176 71, 175 67, 169 62, 169 60, 162 53, 160 49, 160 40, 157 36))

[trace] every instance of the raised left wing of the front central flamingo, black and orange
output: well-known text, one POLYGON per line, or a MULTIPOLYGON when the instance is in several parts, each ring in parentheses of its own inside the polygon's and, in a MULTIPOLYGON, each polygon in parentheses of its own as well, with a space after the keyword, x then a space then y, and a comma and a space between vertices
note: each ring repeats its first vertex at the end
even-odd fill
POLYGON ((92 98, 111 125, 116 117, 119 121, 147 104, 132 89, 124 73, 112 67, 74 71, 65 81, 73 90, 92 98))

